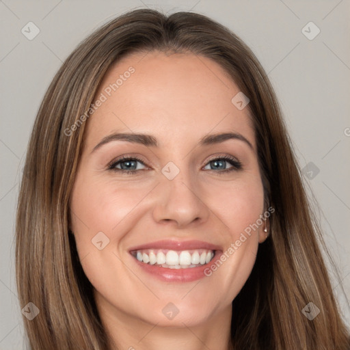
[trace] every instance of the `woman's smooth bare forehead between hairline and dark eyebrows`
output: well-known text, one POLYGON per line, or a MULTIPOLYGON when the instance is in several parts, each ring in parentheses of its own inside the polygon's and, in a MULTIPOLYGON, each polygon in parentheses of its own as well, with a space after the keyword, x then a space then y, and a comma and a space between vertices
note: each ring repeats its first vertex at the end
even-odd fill
POLYGON ((88 120, 85 139, 90 144, 116 131, 142 132, 167 146, 233 131, 255 148, 248 108, 239 110, 231 101, 237 93, 224 68, 207 57, 158 51, 129 55, 103 78, 95 96, 103 103, 88 120))

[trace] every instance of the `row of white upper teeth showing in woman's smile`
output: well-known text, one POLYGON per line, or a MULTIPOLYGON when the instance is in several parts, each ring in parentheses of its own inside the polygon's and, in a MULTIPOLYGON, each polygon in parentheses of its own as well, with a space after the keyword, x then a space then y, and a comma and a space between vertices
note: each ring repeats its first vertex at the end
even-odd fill
POLYGON ((133 253, 137 260, 163 267, 196 267, 207 264, 214 256, 213 250, 137 250, 133 253))

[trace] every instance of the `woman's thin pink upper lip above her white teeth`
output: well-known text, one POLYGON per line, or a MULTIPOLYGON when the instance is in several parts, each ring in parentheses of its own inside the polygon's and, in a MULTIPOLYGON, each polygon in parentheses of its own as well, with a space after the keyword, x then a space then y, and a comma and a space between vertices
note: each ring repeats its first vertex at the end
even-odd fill
POLYGON ((132 247, 129 251, 142 250, 142 249, 166 249, 166 250, 195 250, 195 249, 207 249, 207 250, 221 250, 219 245, 204 241, 178 241, 176 239, 163 239, 161 241, 154 241, 142 245, 132 247))

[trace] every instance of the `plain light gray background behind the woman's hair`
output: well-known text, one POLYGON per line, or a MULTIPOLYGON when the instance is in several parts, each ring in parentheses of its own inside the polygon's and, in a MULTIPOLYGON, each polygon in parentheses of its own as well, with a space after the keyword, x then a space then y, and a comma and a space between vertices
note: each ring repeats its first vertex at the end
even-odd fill
MULTIPOLYGON (((319 203, 327 247, 350 297, 349 0, 4 0, 0 1, 2 350, 25 349, 23 306, 18 305, 14 274, 14 217, 27 142, 44 92, 85 36, 127 10, 146 7, 206 14, 252 48, 280 99, 306 185, 319 203), (40 29, 33 40, 21 32, 29 21, 40 29), (304 35, 305 31, 308 36, 316 33, 314 27, 306 26, 310 21, 321 30, 313 40, 304 35)), ((338 282, 333 283, 350 325, 349 306, 338 282)))

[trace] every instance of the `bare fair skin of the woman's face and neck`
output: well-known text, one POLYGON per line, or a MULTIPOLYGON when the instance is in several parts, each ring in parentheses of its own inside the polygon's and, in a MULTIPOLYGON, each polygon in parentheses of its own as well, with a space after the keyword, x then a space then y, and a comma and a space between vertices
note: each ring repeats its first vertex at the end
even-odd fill
MULTIPOLYGON (((135 72, 87 121, 85 142, 70 198, 71 229, 100 317, 120 349, 227 350, 231 303, 249 277, 265 223, 210 277, 163 282, 137 266, 129 249, 161 239, 198 239, 225 252, 264 213, 254 129, 247 108, 231 99, 239 92, 211 59, 191 53, 152 52, 124 57, 112 66, 96 96, 130 66, 135 72), (232 131, 239 139, 198 146, 208 133, 232 131), (159 148, 113 141, 116 132, 157 137, 159 148), (141 157, 136 174, 107 170, 122 155, 141 157), (241 170, 226 174, 211 159, 229 155, 241 170), (180 170, 169 180, 161 170, 172 161, 180 170), (103 250, 97 232, 109 238, 103 250), (162 312, 173 303, 179 312, 162 312)), ((125 163, 123 163, 125 164, 125 163)), ((119 163, 118 167, 121 167, 119 163)), ((228 162, 226 169, 232 168, 228 162)))

